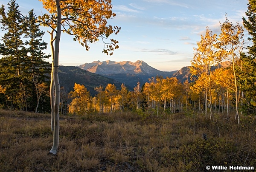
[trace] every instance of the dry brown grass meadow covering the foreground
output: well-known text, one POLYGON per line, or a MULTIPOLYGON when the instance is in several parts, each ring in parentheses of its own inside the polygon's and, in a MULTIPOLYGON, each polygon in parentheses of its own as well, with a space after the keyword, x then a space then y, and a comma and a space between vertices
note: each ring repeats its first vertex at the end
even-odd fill
POLYGON ((15 172, 204 171, 256 164, 256 121, 215 114, 61 116, 57 155, 50 115, 0 110, 0 169, 15 172), (202 134, 207 134, 207 141, 202 134))

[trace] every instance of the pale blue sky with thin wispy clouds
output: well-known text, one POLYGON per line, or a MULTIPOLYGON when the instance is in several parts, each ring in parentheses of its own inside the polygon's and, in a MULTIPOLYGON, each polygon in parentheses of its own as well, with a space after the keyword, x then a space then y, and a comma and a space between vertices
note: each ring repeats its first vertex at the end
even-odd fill
MULTIPOLYGON (((8 9, 9 0, 0 0, 8 9)), ((22 14, 32 8, 35 14, 46 12, 38 0, 16 0, 22 14)), ((61 34, 59 64, 77 66, 93 61, 116 62, 143 60, 162 71, 180 70, 190 66, 193 48, 205 34, 208 26, 213 33, 220 34, 220 22, 225 14, 233 22, 242 25, 248 0, 112 0, 116 17, 109 19, 110 25, 121 27, 111 38, 119 41, 119 48, 112 56, 102 53, 104 44, 90 44, 86 51, 73 36, 61 34)), ((49 28, 43 28, 45 42, 49 42, 49 28)), ((4 34, 0 31, 0 36, 4 34)), ((247 34, 245 32, 245 39, 247 34)), ((50 54, 50 47, 45 51, 50 54)), ((51 61, 50 59, 48 61, 51 61)))

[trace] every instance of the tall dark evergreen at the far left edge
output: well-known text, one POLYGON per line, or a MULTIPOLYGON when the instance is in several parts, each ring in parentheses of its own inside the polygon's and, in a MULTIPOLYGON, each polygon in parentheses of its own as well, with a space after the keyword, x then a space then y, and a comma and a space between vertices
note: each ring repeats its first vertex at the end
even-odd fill
POLYGON ((1 29, 7 31, 0 43, 0 54, 3 56, 0 59, 0 83, 6 87, 7 107, 24 110, 28 94, 24 92, 21 79, 22 61, 26 56, 21 39, 24 30, 23 17, 15 0, 11 0, 8 5, 7 13, 3 5, 0 8, 0 22, 3 25, 1 29))

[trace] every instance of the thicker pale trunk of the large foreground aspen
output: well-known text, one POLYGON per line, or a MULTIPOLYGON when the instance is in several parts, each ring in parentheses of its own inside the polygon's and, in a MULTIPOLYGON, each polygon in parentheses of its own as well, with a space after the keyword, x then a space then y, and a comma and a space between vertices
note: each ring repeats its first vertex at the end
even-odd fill
POLYGON ((60 105, 60 84, 58 79, 58 59, 59 59, 59 45, 61 39, 61 6, 60 0, 56 0, 56 8, 57 8, 57 31, 55 35, 55 51, 54 51, 54 60, 53 60, 53 82, 54 82, 54 126, 53 126, 53 144, 50 153, 56 155, 58 145, 59 145, 59 105, 60 105))

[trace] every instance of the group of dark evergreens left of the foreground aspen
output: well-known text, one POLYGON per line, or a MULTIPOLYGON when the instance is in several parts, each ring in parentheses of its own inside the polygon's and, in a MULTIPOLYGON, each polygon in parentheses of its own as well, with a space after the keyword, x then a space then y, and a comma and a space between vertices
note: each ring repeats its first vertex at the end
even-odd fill
POLYGON ((47 43, 34 11, 23 16, 15 0, 0 8, 0 107, 9 110, 49 112, 49 63, 47 43))

